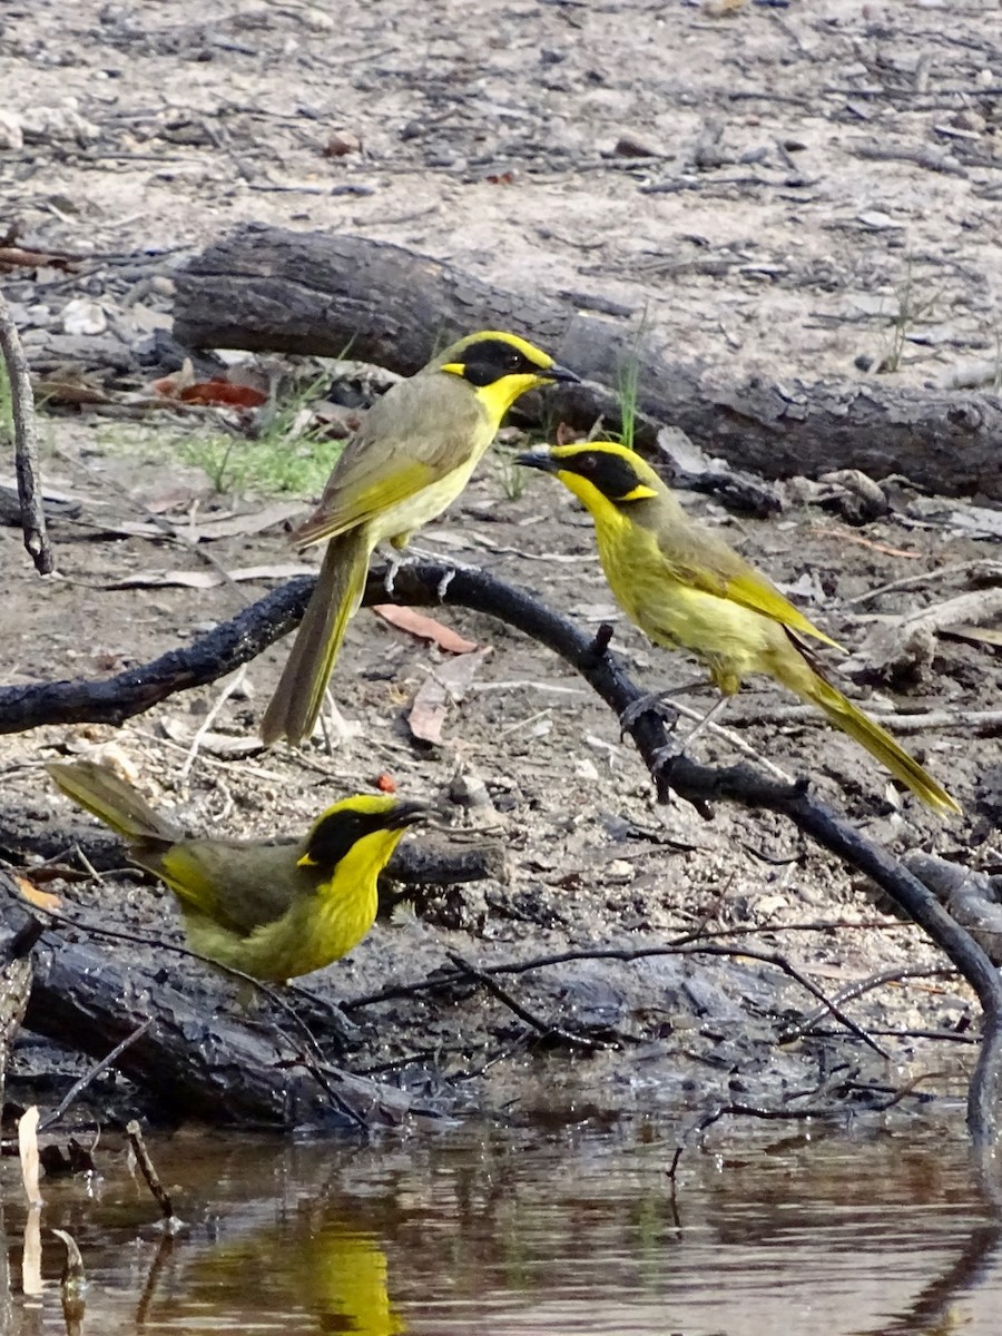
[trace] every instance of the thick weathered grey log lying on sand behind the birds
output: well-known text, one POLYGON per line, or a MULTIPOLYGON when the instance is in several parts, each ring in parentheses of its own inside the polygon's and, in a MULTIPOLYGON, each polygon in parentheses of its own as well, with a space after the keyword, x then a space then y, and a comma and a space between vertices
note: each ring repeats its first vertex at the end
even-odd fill
MULTIPOLYGON (((619 422, 616 389, 636 363, 639 441, 672 424, 703 449, 767 477, 855 468, 904 473, 938 492, 1002 501, 1002 401, 878 381, 735 377, 727 359, 681 362, 625 325, 505 291, 413 251, 362 236, 248 226, 178 274, 175 335, 190 347, 365 358, 411 374, 476 329, 534 339, 591 383, 548 391, 565 421, 619 422)), ((533 411, 532 401, 522 406, 533 411)))

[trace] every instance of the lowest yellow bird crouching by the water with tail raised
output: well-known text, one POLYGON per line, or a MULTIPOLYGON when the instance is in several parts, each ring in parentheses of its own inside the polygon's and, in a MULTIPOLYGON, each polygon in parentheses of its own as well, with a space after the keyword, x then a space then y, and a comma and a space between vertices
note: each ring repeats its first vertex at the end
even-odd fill
POLYGON ((375 921, 379 872, 428 811, 358 794, 322 812, 303 839, 186 839, 106 766, 52 762, 47 770, 126 840, 138 867, 170 886, 192 951, 279 983, 362 941, 375 921))

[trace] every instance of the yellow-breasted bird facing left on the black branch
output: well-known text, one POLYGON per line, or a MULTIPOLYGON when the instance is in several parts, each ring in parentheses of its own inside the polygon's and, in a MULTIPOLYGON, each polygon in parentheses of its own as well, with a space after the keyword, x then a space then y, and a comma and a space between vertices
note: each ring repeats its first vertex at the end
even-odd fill
POLYGON ((591 441, 529 452, 516 462, 554 474, 591 513, 605 578, 655 644, 697 655, 724 696, 748 673, 766 673, 816 705, 926 806, 959 814, 955 799, 822 676, 802 640, 840 647, 721 538, 691 520, 639 454, 612 441, 591 441))

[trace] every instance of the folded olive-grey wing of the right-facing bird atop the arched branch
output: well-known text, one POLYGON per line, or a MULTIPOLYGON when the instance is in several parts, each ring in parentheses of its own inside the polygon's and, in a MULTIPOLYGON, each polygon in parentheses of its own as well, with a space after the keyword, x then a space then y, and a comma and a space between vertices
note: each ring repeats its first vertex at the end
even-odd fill
POLYGON ((366 413, 294 541, 333 538, 438 482, 469 458, 484 421, 472 386, 458 377, 394 385, 366 413))

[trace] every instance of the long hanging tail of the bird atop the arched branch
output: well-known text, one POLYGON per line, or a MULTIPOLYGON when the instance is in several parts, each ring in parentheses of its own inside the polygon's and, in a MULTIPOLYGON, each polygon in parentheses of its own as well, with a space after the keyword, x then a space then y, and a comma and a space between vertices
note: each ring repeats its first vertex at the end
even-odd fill
POLYGON ((363 528, 327 544, 289 661, 261 721, 266 743, 287 737, 297 744, 313 733, 347 624, 362 601, 369 556, 363 528))

